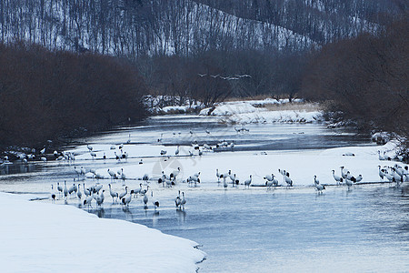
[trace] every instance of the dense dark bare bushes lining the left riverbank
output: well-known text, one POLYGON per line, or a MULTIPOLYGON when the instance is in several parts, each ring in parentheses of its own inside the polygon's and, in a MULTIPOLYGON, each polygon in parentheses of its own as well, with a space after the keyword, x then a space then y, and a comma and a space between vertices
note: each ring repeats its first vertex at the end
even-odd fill
POLYGON ((144 80, 126 61, 0 45, 0 145, 43 147, 145 116, 144 80))

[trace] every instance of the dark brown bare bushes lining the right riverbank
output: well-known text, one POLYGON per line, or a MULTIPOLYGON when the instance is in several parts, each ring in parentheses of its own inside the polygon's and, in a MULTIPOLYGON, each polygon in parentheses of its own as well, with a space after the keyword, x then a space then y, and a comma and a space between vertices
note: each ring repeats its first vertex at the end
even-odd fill
POLYGON ((407 15, 377 35, 358 35, 314 53, 303 95, 325 102, 362 129, 401 136, 409 148, 409 24, 407 15))

